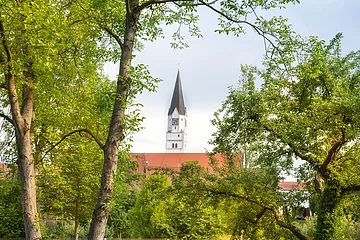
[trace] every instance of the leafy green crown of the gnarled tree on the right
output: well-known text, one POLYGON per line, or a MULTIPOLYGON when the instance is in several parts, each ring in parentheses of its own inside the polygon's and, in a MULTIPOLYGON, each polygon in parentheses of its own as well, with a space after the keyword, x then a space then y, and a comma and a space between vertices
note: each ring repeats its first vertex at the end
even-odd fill
POLYGON ((229 134, 232 134, 230 138, 235 147, 234 141, 244 145, 251 140, 262 146, 259 156, 264 157, 260 162, 283 159, 283 163, 288 162, 280 165, 285 170, 291 168, 294 153, 295 157, 311 164, 323 162, 334 139, 341 137, 341 129, 347 129, 349 141, 353 139, 356 136, 354 127, 357 129, 358 124, 352 109, 358 107, 354 106, 353 100, 357 96, 350 91, 349 81, 357 71, 346 67, 355 66, 349 63, 344 68, 337 68, 338 62, 349 58, 338 56, 339 41, 340 36, 337 36, 328 46, 310 38, 304 43, 307 47, 301 49, 310 52, 301 55, 299 65, 288 69, 286 74, 290 76, 279 74, 276 69, 273 71, 275 65, 271 62, 277 62, 276 56, 266 61, 270 64, 266 64, 264 71, 243 67, 247 85, 256 78, 254 74, 264 79, 264 84, 259 90, 249 91, 242 80, 239 89, 230 91, 224 107, 216 114, 224 115, 214 121, 220 126, 214 141, 220 143, 229 134))

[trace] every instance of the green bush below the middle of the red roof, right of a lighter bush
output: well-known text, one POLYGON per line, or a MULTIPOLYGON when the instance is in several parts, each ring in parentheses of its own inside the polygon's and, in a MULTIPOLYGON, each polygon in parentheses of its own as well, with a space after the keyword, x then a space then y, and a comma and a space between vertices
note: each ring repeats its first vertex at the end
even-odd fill
POLYGON ((170 219, 177 238, 217 238, 225 233, 226 213, 202 189, 206 175, 197 162, 188 162, 172 177, 174 205, 170 219))

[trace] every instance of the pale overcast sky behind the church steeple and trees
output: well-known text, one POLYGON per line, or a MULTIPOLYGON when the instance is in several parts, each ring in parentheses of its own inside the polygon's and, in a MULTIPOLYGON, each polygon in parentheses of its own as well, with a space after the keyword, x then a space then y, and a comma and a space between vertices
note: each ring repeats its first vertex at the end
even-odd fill
MULTIPOLYGON (((210 119, 226 99, 228 87, 236 85, 241 64, 261 66, 263 40, 251 29, 241 37, 214 33, 217 16, 208 9, 200 13, 203 38, 187 38, 190 48, 174 50, 170 37, 145 43, 136 52, 135 63, 149 66, 154 77, 161 78, 156 93, 144 93, 137 98, 145 106, 146 117, 139 133, 134 135, 133 152, 165 152, 167 111, 170 106, 178 68, 188 111, 188 152, 211 150, 208 140, 216 130, 210 119)), ((360 0, 302 0, 285 10, 272 11, 289 19, 293 30, 303 36, 317 35, 329 41, 336 33, 344 35, 342 48, 347 53, 360 49, 360 0)), ((174 27, 165 26, 171 36, 174 27)), ((105 66, 105 73, 115 79, 117 65, 105 66)))

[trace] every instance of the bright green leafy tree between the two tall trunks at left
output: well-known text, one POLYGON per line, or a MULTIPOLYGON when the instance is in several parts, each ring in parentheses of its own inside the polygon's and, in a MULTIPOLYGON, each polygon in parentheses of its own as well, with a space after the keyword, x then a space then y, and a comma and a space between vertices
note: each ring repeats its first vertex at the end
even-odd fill
MULTIPOLYGON (((93 47, 88 44, 83 51, 91 56, 93 47)), ((59 78, 66 74, 68 83, 38 98, 34 121, 42 212, 73 220, 75 239, 79 224, 89 220, 96 203, 101 142, 108 130, 114 86, 96 72, 99 63, 92 58, 79 57, 76 63, 79 69, 74 73, 57 72, 59 78), (48 116, 53 111, 58 114, 48 116)))

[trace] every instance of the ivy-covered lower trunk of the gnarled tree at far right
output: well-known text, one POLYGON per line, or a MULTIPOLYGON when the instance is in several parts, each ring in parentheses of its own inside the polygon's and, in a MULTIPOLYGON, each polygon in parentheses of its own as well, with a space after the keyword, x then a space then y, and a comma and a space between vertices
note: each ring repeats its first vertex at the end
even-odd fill
POLYGON ((328 186, 320 196, 317 212, 317 226, 315 232, 316 240, 337 240, 342 239, 340 207, 341 189, 337 186, 328 186))

